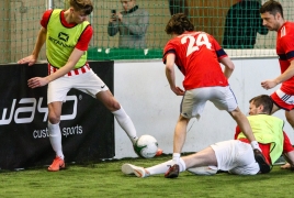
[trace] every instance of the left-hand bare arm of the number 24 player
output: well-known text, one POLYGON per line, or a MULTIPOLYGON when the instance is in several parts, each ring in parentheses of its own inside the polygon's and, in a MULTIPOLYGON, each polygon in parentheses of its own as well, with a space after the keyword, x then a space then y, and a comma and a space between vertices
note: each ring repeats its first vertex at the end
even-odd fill
POLYGON ((170 89, 177 96, 183 96, 184 91, 181 88, 176 86, 174 61, 176 61, 176 55, 173 53, 167 54, 166 76, 167 76, 167 79, 169 81, 170 89))

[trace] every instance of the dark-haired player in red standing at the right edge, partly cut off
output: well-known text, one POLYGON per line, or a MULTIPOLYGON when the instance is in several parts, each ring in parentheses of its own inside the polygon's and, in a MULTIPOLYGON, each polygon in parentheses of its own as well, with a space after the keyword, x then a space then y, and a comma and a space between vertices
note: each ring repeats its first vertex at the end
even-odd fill
MULTIPOLYGON (((285 21, 283 7, 278 1, 268 1, 260 8, 263 25, 270 31, 276 31, 276 54, 281 67, 281 75, 274 79, 261 82, 264 89, 271 89, 282 84, 271 95, 274 102, 272 113, 285 110, 287 122, 294 128, 294 23, 285 21)), ((286 165, 285 167, 290 167, 286 165)))

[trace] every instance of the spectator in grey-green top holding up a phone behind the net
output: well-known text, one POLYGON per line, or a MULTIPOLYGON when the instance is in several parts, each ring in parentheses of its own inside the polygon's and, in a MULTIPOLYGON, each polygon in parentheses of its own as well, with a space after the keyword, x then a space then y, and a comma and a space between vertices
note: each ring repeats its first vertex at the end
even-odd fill
POLYGON ((136 6, 136 0, 121 0, 122 12, 112 12, 108 33, 114 36, 120 32, 118 47, 146 48, 145 34, 149 24, 149 14, 136 6))

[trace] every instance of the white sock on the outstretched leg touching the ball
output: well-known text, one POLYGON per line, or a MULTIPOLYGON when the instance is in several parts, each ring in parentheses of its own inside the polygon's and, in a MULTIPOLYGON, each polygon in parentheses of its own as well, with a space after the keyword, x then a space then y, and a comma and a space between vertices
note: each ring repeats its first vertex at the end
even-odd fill
POLYGON ((121 125, 121 128, 126 132, 127 136, 132 141, 133 144, 138 140, 136 129, 131 120, 131 118, 126 114, 125 110, 121 106, 121 109, 112 112, 121 125))

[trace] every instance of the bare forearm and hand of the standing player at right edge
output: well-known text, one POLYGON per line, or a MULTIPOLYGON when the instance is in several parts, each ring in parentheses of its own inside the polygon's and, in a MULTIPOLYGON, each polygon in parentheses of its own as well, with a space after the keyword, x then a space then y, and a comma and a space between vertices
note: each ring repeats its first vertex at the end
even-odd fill
POLYGON ((294 59, 290 62, 290 66, 283 74, 278 76, 275 79, 268 79, 268 80, 261 81, 261 86, 264 89, 271 89, 278 86, 279 84, 282 84, 283 81, 292 78, 293 76, 294 76, 294 59))

